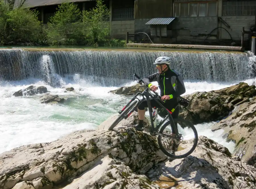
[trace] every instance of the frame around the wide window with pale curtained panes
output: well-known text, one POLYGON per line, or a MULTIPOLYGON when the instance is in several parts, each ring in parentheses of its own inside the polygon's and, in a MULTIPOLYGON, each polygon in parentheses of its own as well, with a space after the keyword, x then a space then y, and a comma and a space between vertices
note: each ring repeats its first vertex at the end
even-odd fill
POLYGON ((177 17, 177 18, 197 18, 197 17, 216 17, 216 16, 209 16, 209 3, 216 3, 216 16, 218 16, 218 1, 200 1, 200 2, 179 2, 179 3, 173 3, 173 17, 177 17), (206 12, 207 12, 207 16, 199 16, 199 3, 206 3, 206 12), (175 5, 179 4, 179 15, 175 16, 175 5), (187 4, 188 5, 188 16, 180 16, 180 7, 181 4, 187 4), (189 16, 189 9, 190 9, 190 4, 197 4, 197 16, 189 16))

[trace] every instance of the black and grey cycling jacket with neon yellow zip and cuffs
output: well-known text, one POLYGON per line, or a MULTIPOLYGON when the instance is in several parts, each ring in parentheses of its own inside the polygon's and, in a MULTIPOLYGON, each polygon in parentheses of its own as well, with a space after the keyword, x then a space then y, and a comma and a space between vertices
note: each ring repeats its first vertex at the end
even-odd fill
MULTIPOLYGON (((160 88, 160 95, 169 95, 170 99, 179 97, 186 92, 185 85, 181 75, 168 68, 168 70, 162 74, 154 73, 148 77, 142 79, 144 83, 150 87, 150 82, 157 81, 160 88)), ((166 101, 167 102, 167 101, 166 101)))

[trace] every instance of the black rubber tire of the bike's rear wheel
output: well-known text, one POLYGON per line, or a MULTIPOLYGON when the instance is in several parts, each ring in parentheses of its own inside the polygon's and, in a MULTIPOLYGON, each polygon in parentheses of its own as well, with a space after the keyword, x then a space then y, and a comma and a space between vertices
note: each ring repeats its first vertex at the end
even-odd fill
MULTIPOLYGON (((185 153, 185 154, 183 154, 183 155, 173 155, 173 154, 169 153, 168 151, 166 151, 166 149, 162 146, 162 143, 161 143, 161 138, 162 138, 162 136, 160 136, 160 135, 158 135, 158 145, 159 145, 160 149, 164 152, 164 154, 167 155, 167 156, 169 156, 169 157, 172 157, 172 158, 175 158, 175 159, 185 158, 185 157, 187 157, 188 155, 190 155, 190 154, 195 150, 195 148, 197 147, 197 142, 198 142, 197 130, 196 130, 194 124, 191 123, 191 122, 188 121, 188 120, 179 119, 179 118, 178 118, 178 119, 173 119, 173 121, 174 121, 174 122, 176 122, 176 121, 177 121, 177 122, 179 122, 179 121, 185 122, 186 124, 188 124, 188 125, 192 128, 192 130, 193 130, 193 132, 194 132, 194 134, 195 134, 195 143, 194 143, 193 147, 192 147, 187 153, 185 153)), ((162 132, 164 131, 164 129, 165 129, 168 125, 170 125, 170 121, 166 122, 166 123, 162 126, 162 128, 161 128, 160 131, 159 131, 159 133, 162 134, 162 132)))

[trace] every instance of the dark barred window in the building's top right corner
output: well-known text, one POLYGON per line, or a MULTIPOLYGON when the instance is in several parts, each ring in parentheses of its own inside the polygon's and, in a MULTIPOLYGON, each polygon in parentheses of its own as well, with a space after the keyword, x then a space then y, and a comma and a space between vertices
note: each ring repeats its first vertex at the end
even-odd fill
POLYGON ((256 1, 223 1, 222 16, 254 16, 256 1))

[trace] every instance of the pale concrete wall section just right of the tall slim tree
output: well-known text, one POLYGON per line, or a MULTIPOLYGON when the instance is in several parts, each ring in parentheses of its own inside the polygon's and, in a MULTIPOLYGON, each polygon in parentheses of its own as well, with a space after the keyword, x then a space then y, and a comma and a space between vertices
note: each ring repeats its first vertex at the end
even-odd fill
POLYGON ((111 22, 111 36, 114 38, 125 39, 126 32, 134 34, 134 20, 122 20, 111 22))

